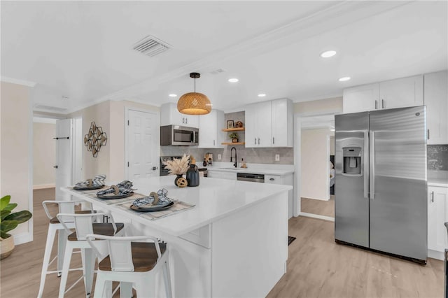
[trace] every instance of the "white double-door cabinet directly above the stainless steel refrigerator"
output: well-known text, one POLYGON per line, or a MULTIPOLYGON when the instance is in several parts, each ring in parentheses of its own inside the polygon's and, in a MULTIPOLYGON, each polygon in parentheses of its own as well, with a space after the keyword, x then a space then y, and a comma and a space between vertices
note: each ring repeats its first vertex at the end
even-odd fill
POLYGON ((344 90, 344 113, 423 105, 423 76, 398 78, 344 90))

